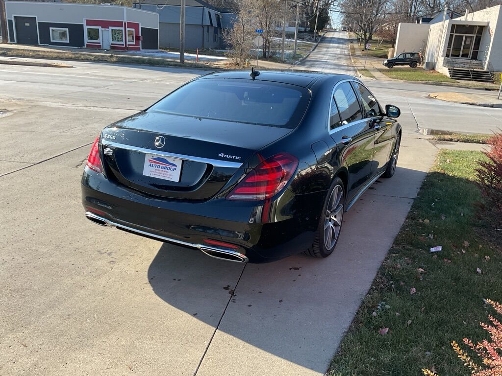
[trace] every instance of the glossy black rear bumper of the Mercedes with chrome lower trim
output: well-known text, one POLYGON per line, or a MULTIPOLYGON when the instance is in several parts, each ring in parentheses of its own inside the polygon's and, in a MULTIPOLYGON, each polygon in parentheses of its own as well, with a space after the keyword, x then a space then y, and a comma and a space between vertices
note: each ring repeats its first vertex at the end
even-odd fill
POLYGON ((269 202, 224 198, 187 202, 143 195, 88 168, 82 176, 87 218, 94 216, 119 230, 185 247, 232 251, 254 263, 307 249, 314 241, 324 195, 294 195, 286 190, 269 202), (233 247, 215 247, 207 240, 233 247))

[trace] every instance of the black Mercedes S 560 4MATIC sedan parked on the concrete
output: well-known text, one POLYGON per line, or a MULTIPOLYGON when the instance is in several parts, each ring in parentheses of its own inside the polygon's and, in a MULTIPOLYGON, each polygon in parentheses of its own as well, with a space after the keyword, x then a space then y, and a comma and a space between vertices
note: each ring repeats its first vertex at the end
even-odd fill
POLYGON ((399 115, 351 76, 206 74, 103 129, 85 216, 224 260, 327 257, 343 213, 394 174, 399 115))

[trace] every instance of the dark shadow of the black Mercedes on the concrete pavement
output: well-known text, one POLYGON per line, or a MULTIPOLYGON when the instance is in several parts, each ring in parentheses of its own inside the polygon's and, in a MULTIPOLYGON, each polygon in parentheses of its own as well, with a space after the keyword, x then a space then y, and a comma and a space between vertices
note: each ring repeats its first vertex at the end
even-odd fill
POLYGON ((373 184, 345 214, 329 258, 298 254, 244 266, 164 244, 150 265, 150 284, 166 303, 218 327, 205 358, 223 367, 221 374, 245 364, 256 347, 268 353, 260 351, 260 361, 272 368, 280 357, 325 372, 424 176, 398 167, 392 179, 373 184), (234 355, 226 365, 221 354, 229 346, 234 355))

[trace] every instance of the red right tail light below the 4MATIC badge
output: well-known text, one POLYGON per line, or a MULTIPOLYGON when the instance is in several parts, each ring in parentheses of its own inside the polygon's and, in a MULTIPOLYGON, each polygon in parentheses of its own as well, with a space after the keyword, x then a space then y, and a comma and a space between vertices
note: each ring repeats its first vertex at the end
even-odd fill
POLYGON ((260 162, 234 187, 227 200, 257 201, 270 199, 281 191, 298 167, 298 159, 279 153, 260 162))

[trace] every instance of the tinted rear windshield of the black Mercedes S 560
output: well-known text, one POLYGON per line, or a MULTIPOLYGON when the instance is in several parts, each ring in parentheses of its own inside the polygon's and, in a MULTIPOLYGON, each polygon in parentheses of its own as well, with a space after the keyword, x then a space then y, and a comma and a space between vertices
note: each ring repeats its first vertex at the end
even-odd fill
POLYGON ((295 85, 209 78, 182 86, 154 104, 149 111, 295 128, 305 112, 308 97, 305 88, 295 85))

